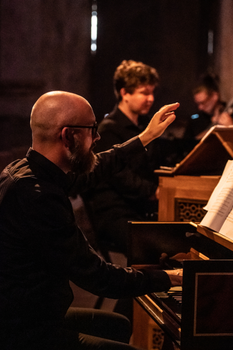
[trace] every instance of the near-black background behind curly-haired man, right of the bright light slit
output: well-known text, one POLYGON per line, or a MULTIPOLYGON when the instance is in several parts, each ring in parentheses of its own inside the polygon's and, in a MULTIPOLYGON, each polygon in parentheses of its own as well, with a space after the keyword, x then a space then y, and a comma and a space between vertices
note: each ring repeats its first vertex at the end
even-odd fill
POLYGON ((192 88, 211 65, 208 30, 217 6, 217 1, 210 0, 99 1, 91 86, 97 117, 101 119, 114 105, 112 77, 123 59, 142 61, 158 70, 161 86, 155 110, 178 101, 178 115, 185 118, 192 113, 192 88))

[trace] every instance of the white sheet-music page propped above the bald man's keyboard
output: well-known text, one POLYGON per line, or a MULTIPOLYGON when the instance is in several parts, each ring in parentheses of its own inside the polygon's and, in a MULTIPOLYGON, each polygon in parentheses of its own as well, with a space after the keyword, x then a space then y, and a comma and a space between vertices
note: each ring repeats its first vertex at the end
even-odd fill
MULTIPOLYGON (((200 225, 209 227, 219 232, 227 217, 228 225, 233 229, 233 161, 227 162, 223 175, 213 191, 205 209, 208 212, 200 222, 200 225), (231 221, 232 220, 232 221, 231 221)), ((226 224, 227 225, 227 224, 226 224)), ((223 229, 222 233, 225 232, 223 229)))

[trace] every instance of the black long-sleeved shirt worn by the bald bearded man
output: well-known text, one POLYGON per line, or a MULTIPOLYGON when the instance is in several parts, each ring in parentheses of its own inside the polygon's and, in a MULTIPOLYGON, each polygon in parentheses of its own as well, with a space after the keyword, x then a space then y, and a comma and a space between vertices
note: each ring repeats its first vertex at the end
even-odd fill
POLYGON ((71 187, 79 192, 122 169, 131 152, 145 152, 138 138, 100 154, 94 173, 77 177, 30 149, 27 158, 2 172, 0 341, 6 345, 1 349, 17 349, 20 337, 25 342, 56 333, 73 299, 69 280, 111 298, 169 288, 164 271, 137 272, 102 261, 76 226, 68 199, 71 187))

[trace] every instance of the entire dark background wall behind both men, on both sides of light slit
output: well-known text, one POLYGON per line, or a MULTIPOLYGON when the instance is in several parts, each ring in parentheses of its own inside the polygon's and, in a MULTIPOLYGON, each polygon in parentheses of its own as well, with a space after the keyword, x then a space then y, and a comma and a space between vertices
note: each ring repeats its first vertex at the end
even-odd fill
POLYGON ((97 5, 92 55, 92 0, 0 0, 0 169, 31 146, 31 109, 45 92, 80 94, 100 122, 115 105, 112 78, 123 59, 158 70, 161 84, 151 113, 179 102, 168 134, 182 137, 196 112, 192 88, 202 72, 215 71, 216 52, 208 54, 207 44, 210 29, 217 38, 220 1, 97 0, 97 5))

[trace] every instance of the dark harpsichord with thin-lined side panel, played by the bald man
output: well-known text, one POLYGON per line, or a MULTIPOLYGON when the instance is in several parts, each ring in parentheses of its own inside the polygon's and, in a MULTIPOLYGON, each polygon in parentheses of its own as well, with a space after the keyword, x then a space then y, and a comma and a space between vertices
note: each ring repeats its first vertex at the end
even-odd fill
POLYGON ((233 349, 232 240, 200 225, 130 222, 129 247, 128 265, 136 268, 183 267, 182 291, 135 298, 134 346, 154 349, 149 319, 175 349, 233 349))

